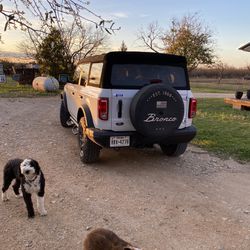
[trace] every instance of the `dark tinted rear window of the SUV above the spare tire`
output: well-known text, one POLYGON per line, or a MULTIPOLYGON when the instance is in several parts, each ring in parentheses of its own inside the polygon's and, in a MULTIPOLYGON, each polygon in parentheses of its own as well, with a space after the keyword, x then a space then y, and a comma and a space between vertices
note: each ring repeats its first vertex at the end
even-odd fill
POLYGON ((187 86, 185 70, 178 66, 150 64, 113 64, 113 87, 142 87, 152 83, 170 84, 174 88, 187 86))

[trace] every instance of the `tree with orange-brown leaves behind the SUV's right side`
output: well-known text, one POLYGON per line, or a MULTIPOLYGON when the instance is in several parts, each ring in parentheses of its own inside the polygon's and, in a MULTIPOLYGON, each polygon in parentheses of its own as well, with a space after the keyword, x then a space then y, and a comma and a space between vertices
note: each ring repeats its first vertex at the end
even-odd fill
POLYGON ((214 61, 211 30, 204 26, 197 14, 173 19, 172 26, 163 37, 165 51, 187 58, 189 71, 199 64, 210 65, 214 61))

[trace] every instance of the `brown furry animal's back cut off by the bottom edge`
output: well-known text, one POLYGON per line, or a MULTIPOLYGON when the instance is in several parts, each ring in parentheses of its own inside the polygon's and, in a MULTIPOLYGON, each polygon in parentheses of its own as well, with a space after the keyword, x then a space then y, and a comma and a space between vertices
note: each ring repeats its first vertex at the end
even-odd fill
POLYGON ((98 228, 90 232, 83 244, 84 250, 142 250, 119 238, 114 232, 98 228))

